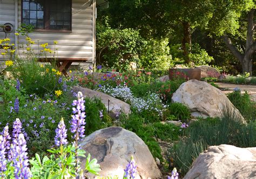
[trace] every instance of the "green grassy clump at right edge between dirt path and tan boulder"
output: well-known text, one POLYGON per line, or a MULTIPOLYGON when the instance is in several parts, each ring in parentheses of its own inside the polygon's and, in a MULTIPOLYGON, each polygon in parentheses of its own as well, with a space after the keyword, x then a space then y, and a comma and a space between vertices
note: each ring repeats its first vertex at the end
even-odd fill
POLYGON ((244 94, 241 94, 239 90, 233 91, 227 97, 248 122, 256 120, 256 104, 251 101, 247 91, 244 94))

